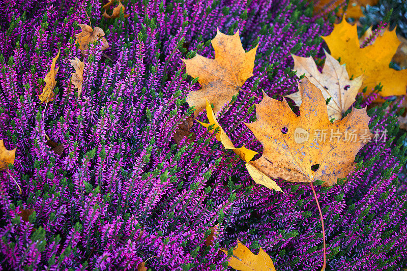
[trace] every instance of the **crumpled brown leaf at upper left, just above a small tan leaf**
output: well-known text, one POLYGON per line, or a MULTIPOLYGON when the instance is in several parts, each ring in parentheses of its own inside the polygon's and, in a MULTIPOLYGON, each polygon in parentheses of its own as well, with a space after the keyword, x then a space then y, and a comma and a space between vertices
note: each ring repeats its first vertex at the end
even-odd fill
POLYGON ((105 39, 105 33, 103 32, 102 28, 95 27, 94 29, 92 29, 92 27, 87 24, 79 24, 79 26, 80 29, 82 29, 82 32, 76 34, 75 43, 79 44, 79 49, 83 56, 86 55, 86 52, 88 51, 89 48, 89 44, 93 43, 97 39, 100 39, 103 43, 101 48, 102 51, 109 48, 109 44, 105 39))

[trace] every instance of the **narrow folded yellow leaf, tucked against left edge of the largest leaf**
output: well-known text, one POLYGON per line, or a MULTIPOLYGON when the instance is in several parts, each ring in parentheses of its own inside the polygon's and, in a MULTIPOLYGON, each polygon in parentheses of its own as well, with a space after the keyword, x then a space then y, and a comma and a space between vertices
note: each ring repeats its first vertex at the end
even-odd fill
POLYGON ((233 150, 235 154, 239 155, 240 158, 246 162, 247 171, 257 184, 264 185, 269 189, 274 189, 283 192, 273 179, 269 178, 263 172, 260 172, 257 168, 253 167, 250 164, 251 163, 250 160, 252 160, 253 157, 257 154, 256 152, 254 152, 254 150, 246 148, 245 145, 243 145, 240 148, 235 148, 230 138, 226 135, 226 133, 223 131, 222 127, 220 127, 218 121, 216 120, 215 114, 212 111, 212 106, 209 104, 208 101, 206 101, 206 103, 209 124, 201 123, 199 121, 198 122, 201 125, 205 126, 206 128, 208 128, 210 125, 214 125, 213 129, 209 131, 211 133, 213 133, 216 128, 219 128, 219 132, 216 134, 216 139, 223 144, 225 149, 233 150))

